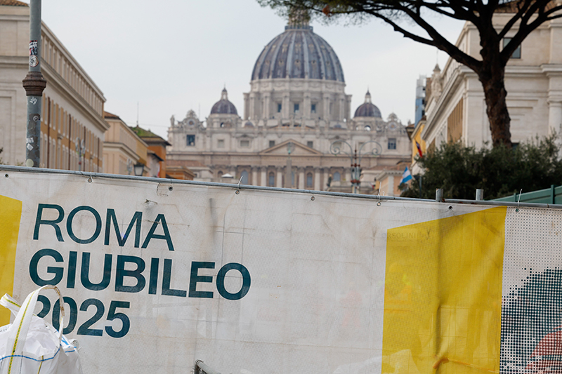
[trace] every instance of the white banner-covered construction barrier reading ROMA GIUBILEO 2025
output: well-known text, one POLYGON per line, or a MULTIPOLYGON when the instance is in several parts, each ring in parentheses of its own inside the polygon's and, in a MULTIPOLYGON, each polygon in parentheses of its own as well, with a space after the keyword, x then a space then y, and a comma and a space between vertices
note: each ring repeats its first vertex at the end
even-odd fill
POLYGON ((0 292, 86 374, 562 366, 556 208, 0 169, 0 292))

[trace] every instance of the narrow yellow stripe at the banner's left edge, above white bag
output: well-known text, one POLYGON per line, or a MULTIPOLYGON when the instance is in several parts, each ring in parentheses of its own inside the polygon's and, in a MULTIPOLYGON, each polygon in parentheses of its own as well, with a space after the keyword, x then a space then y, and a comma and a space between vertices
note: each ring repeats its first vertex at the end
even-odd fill
MULTIPOLYGON (((22 202, 0 196, 0 295, 13 295, 15 247, 18 245, 22 202)), ((10 323, 10 311, 0 308, 0 326, 10 323)))

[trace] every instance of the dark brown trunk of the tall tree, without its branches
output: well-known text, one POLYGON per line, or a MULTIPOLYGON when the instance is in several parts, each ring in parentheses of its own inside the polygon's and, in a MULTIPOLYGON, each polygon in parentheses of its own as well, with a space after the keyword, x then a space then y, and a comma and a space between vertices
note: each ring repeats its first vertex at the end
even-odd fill
POLYGON ((484 88, 486 114, 490 121, 492 145, 497 147, 504 144, 511 148, 511 133, 509 132, 509 112, 505 102, 507 91, 504 76, 506 62, 499 54, 499 41, 495 38, 485 38, 481 35, 481 55, 483 63, 479 69, 478 80, 484 88))

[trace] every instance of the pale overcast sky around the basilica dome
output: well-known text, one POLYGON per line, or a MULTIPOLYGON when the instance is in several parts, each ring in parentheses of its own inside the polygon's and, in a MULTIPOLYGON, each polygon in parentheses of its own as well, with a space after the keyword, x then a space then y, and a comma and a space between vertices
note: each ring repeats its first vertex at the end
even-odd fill
MULTIPOLYGON (((29 2, 29 0, 27 0, 29 2)), ((44 0, 42 18, 105 95, 105 110, 127 124, 137 121, 167 139, 172 114, 209 115, 226 85, 243 116, 254 63, 284 31, 285 19, 255 0, 44 0)), ((433 22, 452 42, 462 23, 433 22)), ((314 32, 339 57, 352 97, 352 115, 365 100, 384 119, 391 112, 414 121, 416 79, 431 75, 447 55, 405 39, 378 20, 363 25, 322 25, 314 32)))

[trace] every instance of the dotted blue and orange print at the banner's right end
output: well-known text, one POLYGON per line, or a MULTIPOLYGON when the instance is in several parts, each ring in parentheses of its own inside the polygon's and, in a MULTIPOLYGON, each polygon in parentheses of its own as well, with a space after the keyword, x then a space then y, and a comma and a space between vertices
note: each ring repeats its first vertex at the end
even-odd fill
POLYGON ((499 373, 562 373, 562 211, 508 208, 499 373))

